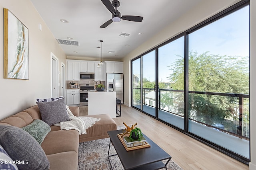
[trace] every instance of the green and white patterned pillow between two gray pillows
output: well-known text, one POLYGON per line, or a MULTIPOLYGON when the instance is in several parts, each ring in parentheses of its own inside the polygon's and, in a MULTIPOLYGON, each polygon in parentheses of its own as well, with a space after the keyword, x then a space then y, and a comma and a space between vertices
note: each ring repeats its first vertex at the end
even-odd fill
POLYGON ((32 135, 40 145, 46 135, 51 131, 50 126, 40 119, 35 119, 29 125, 22 127, 22 129, 32 135))

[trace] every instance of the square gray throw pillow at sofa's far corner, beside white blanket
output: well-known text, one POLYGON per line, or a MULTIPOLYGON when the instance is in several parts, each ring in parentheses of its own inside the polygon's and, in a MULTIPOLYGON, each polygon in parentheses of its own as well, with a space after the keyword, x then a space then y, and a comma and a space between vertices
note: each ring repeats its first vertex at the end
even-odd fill
POLYGON ((52 102, 36 102, 41 112, 42 121, 49 126, 61 121, 69 121, 64 99, 52 102))

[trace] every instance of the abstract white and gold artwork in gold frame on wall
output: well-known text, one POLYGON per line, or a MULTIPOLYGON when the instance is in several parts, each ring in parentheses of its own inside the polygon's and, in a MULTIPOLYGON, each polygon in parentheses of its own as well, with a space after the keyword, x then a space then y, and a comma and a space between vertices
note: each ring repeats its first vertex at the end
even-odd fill
POLYGON ((28 28, 4 8, 4 78, 28 80, 28 28))

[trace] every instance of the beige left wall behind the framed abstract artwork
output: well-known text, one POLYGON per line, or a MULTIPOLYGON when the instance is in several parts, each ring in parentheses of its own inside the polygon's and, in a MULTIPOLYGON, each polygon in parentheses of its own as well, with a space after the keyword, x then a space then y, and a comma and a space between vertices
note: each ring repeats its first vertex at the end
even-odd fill
MULTIPOLYGON (((0 0, 0 10, 0 119, 2 119, 35 105, 36 98, 51 97, 51 53, 58 57, 60 71, 61 62, 66 63, 66 55, 30 0, 0 0), (29 80, 4 79, 3 8, 8 8, 28 28, 29 80), (38 28, 39 23, 42 25, 42 31, 38 28)), ((59 94, 61 94, 60 88, 59 94)))

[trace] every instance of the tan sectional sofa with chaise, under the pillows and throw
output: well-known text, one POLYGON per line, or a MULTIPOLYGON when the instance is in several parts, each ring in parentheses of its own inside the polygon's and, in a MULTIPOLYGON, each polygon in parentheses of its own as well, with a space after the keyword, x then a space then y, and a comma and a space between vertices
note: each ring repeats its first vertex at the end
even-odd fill
MULTIPOLYGON (((79 107, 69 107, 75 116, 79 116, 79 107)), ((100 118, 92 127, 86 130, 86 135, 79 135, 76 130, 60 130, 60 127, 50 126, 51 131, 41 144, 50 162, 50 170, 76 170, 78 167, 79 142, 107 138, 107 131, 116 130, 115 121, 107 114, 92 115, 100 118)), ((0 125, 25 127, 35 119, 41 119, 38 106, 30 107, 0 121, 0 125)), ((40 145, 38 145, 40 146, 40 145)))

